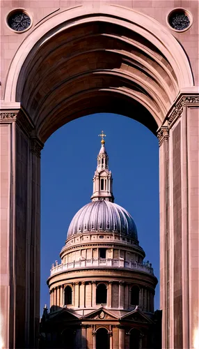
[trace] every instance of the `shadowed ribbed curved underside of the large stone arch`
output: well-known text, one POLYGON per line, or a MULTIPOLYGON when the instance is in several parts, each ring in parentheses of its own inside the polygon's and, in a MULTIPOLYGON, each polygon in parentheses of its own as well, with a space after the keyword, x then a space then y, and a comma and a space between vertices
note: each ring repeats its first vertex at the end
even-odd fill
POLYGON ((57 29, 24 61, 16 98, 42 142, 95 112, 123 114, 153 133, 161 126, 179 91, 173 67, 150 40, 108 21, 57 29))

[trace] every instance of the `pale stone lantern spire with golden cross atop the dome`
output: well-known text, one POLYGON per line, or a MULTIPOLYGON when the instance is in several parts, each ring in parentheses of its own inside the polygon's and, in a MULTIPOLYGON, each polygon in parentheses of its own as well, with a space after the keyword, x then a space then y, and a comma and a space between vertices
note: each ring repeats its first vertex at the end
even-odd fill
POLYGON ((91 200, 107 200, 113 202, 113 179, 111 171, 109 171, 109 156, 106 153, 104 146, 104 137, 106 137, 106 135, 104 135, 104 131, 102 131, 99 136, 102 138, 102 145, 97 156, 97 169, 93 177, 93 195, 91 196, 91 200))

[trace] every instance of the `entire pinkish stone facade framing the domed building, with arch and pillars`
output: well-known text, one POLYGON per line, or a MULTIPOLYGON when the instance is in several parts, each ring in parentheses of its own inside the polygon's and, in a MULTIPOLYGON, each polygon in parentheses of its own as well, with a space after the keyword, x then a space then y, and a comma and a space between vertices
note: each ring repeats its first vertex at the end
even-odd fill
POLYGON ((133 117, 159 137, 163 348, 193 348, 198 42, 198 1, 1 1, 2 348, 37 342, 42 144, 66 122, 93 112, 133 117), (30 16, 25 31, 8 26, 17 8, 30 16), (175 8, 191 14, 187 30, 168 24, 175 8))

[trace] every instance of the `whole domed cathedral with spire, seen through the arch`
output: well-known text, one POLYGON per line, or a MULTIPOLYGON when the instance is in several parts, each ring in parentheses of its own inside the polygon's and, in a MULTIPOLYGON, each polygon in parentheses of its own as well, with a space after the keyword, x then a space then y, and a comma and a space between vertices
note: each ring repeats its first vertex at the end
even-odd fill
POLYGON ((157 278, 144 261, 132 216, 114 203, 103 136, 92 201, 72 218, 61 264, 51 267, 40 348, 161 348, 157 278))

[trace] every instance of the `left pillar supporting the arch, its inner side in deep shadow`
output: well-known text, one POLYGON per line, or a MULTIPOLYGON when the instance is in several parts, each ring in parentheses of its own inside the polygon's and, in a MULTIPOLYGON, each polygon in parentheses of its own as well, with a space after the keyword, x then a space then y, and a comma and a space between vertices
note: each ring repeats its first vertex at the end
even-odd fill
POLYGON ((0 112, 0 333, 4 348, 35 348, 38 339, 42 143, 31 136, 34 127, 16 107, 0 112))

